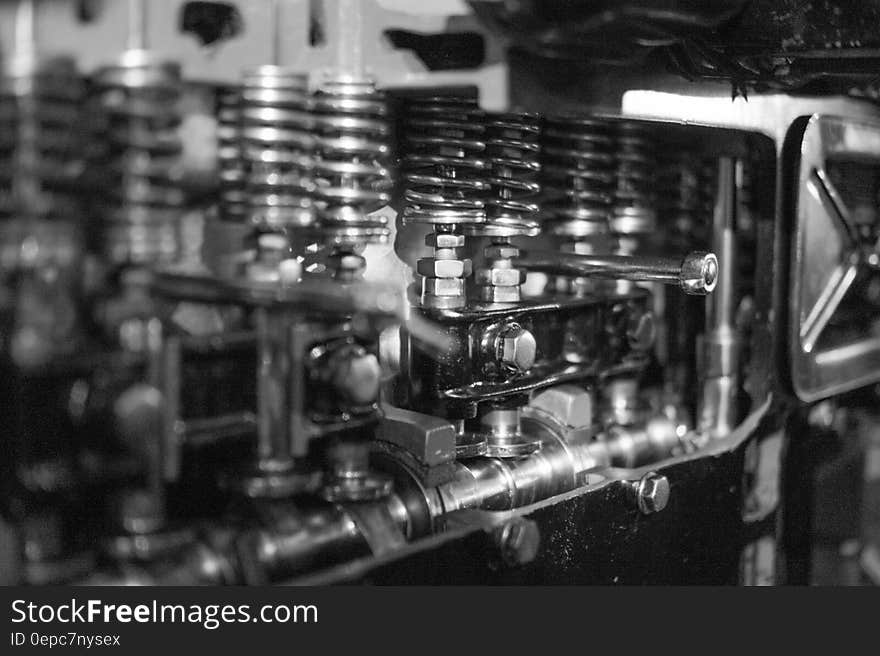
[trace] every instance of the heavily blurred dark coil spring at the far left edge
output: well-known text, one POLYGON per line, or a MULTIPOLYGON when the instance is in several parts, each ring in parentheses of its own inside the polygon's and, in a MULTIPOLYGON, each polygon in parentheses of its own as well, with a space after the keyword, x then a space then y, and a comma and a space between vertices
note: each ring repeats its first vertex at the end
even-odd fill
POLYGON ((57 57, 0 82, 0 217, 75 216, 83 79, 57 57))

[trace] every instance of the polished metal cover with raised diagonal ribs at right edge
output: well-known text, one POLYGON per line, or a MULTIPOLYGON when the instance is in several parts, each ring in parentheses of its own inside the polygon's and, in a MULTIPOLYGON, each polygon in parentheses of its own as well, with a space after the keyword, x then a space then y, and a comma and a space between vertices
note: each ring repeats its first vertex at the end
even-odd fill
MULTIPOLYGON (((851 201, 829 179, 834 160, 876 161, 880 124, 834 116, 810 117, 793 133, 798 193, 792 208, 790 350, 798 397, 813 401, 880 380, 880 342, 868 331, 855 339, 830 337, 844 298, 857 278, 873 275, 876 245, 860 237, 851 201)), ((866 317, 867 319, 867 317, 866 317)))

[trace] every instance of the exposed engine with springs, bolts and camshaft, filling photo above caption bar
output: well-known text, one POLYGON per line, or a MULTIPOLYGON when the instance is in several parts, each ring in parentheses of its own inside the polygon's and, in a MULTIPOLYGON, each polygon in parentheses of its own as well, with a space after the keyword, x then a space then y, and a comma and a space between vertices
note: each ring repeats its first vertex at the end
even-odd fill
POLYGON ((0 2, 0 580, 880 580, 876 34, 783 4, 0 2))

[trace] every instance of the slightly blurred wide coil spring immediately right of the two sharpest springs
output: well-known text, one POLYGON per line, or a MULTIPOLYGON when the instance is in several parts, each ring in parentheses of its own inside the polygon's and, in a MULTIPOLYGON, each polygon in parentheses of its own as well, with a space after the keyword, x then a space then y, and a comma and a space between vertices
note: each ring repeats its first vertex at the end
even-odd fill
POLYGON ((542 140, 546 231, 570 239, 609 233, 616 172, 606 121, 548 118, 542 140))

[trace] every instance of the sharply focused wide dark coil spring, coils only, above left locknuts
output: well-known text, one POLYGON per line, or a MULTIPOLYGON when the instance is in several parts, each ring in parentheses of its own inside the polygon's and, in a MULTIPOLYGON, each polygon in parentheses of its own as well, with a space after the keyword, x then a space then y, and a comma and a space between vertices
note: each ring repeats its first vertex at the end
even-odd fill
POLYGON ((469 225, 486 220, 488 163, 475 99, 419 97, 407 103, 404 221, 469 225))

